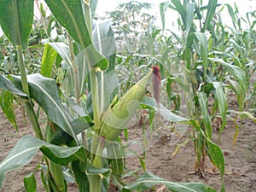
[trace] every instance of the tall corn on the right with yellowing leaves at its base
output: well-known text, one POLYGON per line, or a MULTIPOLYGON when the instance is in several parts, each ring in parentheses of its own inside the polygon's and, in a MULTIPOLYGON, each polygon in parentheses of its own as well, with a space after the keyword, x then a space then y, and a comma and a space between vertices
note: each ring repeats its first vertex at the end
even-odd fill
MULTIPOLYGON (((250 51, 242 49, 248 48, 247 39, 251 36, 245 32, 247 38, 241 38, 239 35, 242 31, 241 26, 236 23, 239 20, 237 21, 238 18, 229 4, 224 6, 229 9, 237 36, 227 32, 221 19, 218 20, 220 15, 216 13, 216 9, 219 6, 222 5, 218 4, 217 0, 208 1, 207 6, 202 6, 202 1, 182 3, 179 0, 172 0, 161 3, 160 12, 163 26, 166 22, 166 9, 173 9, 179 15, 177 23, 180 34, 172 32, 172 37, 176 44, 183 47, 179 49, 179 56, 176 59, 181 64, 183 73, 177 78, 172 77, 170 82, 181 84, 183 81, 182 88, 189 98, 187 106, 189 117, 193 119, 190 125, 194 129, 191 137, 196 152, 195 172, 205 177, 205 163, 209 156, 212 164, 217 166, 221 173, 223 180, 221 191, 224 191, 224 155, 218 145, 212 141, 212 119, 221 119, 219 141, 229 113, 247 113, 249 118, 254 120, 255 118, 252 114, 244 112, 247 92, 245 66, 250 63, 247 61, 250 56, 245 54, 250 51), (231 48, 227 44, 231 44, 231 48), (239 46, 239 44, 243 45, 239 46), (240 112, 228 109, 227 90, 236 92, 240 112), (212 108, 208 108, 208 102, 212 100, 212 108)), ((234 140, 238 132, 236 126, 234 140)))

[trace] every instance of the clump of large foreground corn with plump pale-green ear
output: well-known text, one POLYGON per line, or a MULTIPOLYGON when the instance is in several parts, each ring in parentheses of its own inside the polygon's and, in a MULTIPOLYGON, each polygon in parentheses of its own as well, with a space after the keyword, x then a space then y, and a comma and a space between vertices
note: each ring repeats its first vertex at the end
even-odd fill
MULTIPOLYGON (((43 159, 38 167, 44 188, 50 192, 67 191, 64 172, 72 174, 81 192, 107 191, 110 181, 117 183, 120 191, 143 191, 157 183, 165 183, 173 191, 215 191, 202 183, 172 183, 149 172, 127 185, 119 182, 127 148, 119 142, 119 135, 140 106, 164 113, 170 121, 189 119, 155 104, 154 98, 143 98, 152 76, 159 79, 159 67, 148 69, 118 98, 113 32, 108 22, 93 20, 97 1, 45 2, 55 20, 67 30, 67 41, 44 44, 41 73, 27 75, 23 57, 32 28, 34 1, 0 1, 0 25, 15 47, 20 69, 20 75, 0 74, 3 112, 13 119, 12 98, 20 97, 35 134, 22 137, 0 163, 0 187, 5 172, 25 166, 40 150, 43 159), (58 73, 52 70, 53 65, 59 67, 58 73), (60 84, 52 76, 57 76, 60 84), (38 124, 34 102, 47 115, 45 131, 38 124)), ((154 96, 158 100, 157 93, 154 96)), ((26 191, 36 191, 35 182, 33 172, 25 177, 26 191)))

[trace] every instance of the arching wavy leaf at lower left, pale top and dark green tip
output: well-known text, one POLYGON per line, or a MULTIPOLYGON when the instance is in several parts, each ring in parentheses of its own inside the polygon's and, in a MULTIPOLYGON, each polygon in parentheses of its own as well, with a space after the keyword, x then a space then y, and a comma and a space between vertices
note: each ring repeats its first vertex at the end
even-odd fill
POLYGON ((15 169, 25 166, 41 150, 49 160, 60 166, 67 166, 73 160, 84 161, 86 159, 82 147, 59 147, 37 139, 32 136, 22 137, 15 147, 0 163, 0 188, 3 183, 3 175, 15 169))

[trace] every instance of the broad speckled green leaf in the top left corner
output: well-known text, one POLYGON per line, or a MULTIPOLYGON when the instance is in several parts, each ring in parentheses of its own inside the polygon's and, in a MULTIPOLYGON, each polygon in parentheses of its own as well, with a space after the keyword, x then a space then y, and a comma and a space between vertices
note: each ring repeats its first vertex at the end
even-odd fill
POLYGON ((28 37, 32 30, 33 9, 33 0, 0 1, 0 26, 15 47, 27 48, 28 37))

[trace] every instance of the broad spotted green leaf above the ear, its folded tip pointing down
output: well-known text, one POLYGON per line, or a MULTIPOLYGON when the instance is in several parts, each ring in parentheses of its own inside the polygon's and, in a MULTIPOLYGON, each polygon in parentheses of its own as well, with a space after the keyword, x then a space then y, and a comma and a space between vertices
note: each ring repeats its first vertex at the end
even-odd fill
POLYGON ((56 20, 67 29, 76 42, 82 45, 90 67, 105 70, 108 67, 108 60, 98 53, 92 42, 89 5, 85 1, 76 0, 45 0, 45 3, 56 20))

